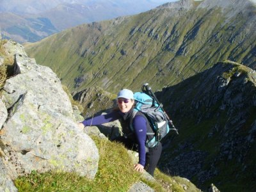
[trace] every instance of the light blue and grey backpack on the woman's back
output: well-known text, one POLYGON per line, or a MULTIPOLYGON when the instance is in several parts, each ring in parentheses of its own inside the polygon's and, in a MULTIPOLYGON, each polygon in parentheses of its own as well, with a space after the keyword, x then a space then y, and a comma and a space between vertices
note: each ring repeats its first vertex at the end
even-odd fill
POLYGON ((136 113, 140 111, 146 116, 152 131, 147 130, 147 135, 154 135, 154 137, 147 137, 146 147, 155 147, 158 141, 161 141, 166 134, 170 131, 168 120, 164 115, 164 111, 161 106, 157 104, 157 101, 143 92, 134 93, 134 100, 136 105, 132 111, 130 129, 133 132, 132 120, 136 113))

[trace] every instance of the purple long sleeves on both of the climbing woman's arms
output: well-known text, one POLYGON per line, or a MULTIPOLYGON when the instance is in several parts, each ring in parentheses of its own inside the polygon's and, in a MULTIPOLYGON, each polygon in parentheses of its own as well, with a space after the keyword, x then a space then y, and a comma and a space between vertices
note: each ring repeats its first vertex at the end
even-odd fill
MULTIPOLYGON (((101 125, 108 122, 113 122, 124 116, 125 113, 120 111, 113 111, 106 115, 95 116, 93 118, 88 118, 82 122, 84 126, 90 125, 101 125)), ((132 127, 134 129, 134 134, 138 142, 138 152, 139 152, 139 163, 145 166, 146 163, 146 148, 145 142, 147 137, 147 120, 144 116, 136 115, 132 121, 132 127)))

